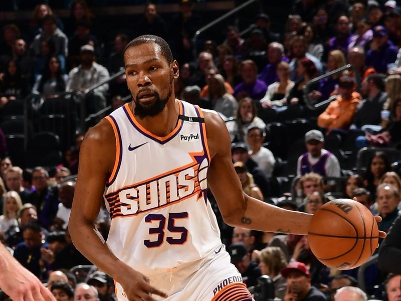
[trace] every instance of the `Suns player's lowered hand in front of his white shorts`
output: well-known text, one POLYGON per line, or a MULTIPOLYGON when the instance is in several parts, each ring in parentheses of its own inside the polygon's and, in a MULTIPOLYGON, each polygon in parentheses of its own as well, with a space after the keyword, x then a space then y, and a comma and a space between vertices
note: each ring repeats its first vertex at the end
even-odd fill
POLYGON ((148 277, 133 269, 122 273, 122 279, 117 279, 117 281, 124 288, 129 301, 156 301, 152 298, 152 294, 167 297, 166 293, 149 284, 148 277))

